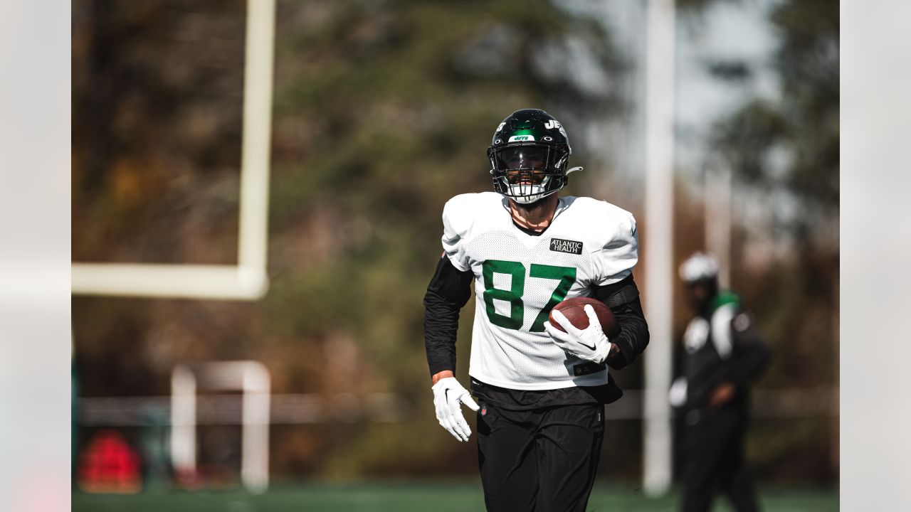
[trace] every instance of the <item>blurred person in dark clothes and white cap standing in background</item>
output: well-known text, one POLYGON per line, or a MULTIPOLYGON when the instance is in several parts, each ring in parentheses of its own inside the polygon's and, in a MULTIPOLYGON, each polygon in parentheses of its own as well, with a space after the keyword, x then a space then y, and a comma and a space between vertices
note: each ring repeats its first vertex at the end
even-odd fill
POLYGON ((740 297, 720 292, 718 263, 697 252, 680 267, 695 316, 683 334, 683 374, 670 403, 685 424, 683 512, 708 512, 717 493, 737 512, 759 510, 744 465, 749 386, 771 351, 740 297))

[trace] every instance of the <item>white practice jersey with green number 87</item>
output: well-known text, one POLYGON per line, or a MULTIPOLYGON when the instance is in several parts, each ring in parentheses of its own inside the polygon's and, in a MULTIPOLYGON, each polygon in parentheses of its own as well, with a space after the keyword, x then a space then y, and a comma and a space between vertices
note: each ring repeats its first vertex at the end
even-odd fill
POLYGON ((449 260, 475 274, 472 377, 526 390, 607 384, 607 369, 576 376, 585 361, 558 348, 544 323, 558 302, 630 275, 639 236, 629 211, 562 197, 548 229, 532 236, 513 224, 506 198, 482 192, 446 202, 443 226, 449 260))

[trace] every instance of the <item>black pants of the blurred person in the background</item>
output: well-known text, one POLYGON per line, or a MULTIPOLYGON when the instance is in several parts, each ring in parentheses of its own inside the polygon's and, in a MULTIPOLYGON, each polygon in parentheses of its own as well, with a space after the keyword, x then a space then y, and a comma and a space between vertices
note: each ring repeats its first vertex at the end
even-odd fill
POLYGON ((756 512, 759 505, 752 479, 743 464, 745 405, 691 411, 698 421, 686 427, 687 465, 683 512, 708 512, 716 494, 731 500, 736 512, 756 512))

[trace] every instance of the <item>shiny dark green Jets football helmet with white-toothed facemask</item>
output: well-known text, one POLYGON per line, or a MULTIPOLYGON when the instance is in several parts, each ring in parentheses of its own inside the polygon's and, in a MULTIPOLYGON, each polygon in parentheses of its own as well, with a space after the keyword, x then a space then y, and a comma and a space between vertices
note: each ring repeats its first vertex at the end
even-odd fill
POLYGON ((524 108, 503 119, 487 148, 494 190, 517 203, 530 204, 562 189, 567 175, 569 138, 544 110, 524 108))

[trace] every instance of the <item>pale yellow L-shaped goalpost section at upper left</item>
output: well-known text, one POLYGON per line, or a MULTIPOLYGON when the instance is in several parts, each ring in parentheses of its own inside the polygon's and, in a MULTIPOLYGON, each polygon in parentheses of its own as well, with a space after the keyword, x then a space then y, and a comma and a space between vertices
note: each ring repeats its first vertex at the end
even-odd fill
POLYGON ((237 265, 74 262, 74 295, 246 301, 265 295, 275 0, 248 0, 246 26, 237 265))

